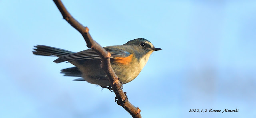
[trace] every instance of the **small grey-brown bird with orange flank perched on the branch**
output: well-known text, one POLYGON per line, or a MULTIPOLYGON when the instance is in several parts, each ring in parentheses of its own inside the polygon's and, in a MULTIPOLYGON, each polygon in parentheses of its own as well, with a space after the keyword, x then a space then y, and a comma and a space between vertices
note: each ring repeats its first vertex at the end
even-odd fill
MULTIPOLYGON (((82 77, 75 80, 87 81, 103 88, 111 86, 108 76, 100 67, 101 58, 94 50, 88 49, 75 53, 50 46, 34 47, 33 54, 57 56, 59 58, 54 60, 55 63, 68 61, 73 64, 75 67, 61 70, 64 76, 82 77)), ((120 46, 107 46, 104 49, 110 52, 111 66, 123 84, 131 82, 138 76, 152 52, 162 50, 155 48, 150 41, 144 38, 130 40, 120 46)))

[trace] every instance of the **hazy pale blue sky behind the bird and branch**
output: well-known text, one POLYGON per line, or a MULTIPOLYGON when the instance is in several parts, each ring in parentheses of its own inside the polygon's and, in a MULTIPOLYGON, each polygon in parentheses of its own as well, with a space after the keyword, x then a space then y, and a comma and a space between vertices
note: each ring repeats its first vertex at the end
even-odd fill
MULTIPOLYGON (((60 74, 36 44, 78 52, 81 34, 52 0, 0 0, 1 118, 131 118, 115 94, 60 74)), ((101 46, 157 48, 124 91, 143 118, 256 117, 255 0, 63 0, 101 46), (239 109, 234 113, 189 112, 239 109)))

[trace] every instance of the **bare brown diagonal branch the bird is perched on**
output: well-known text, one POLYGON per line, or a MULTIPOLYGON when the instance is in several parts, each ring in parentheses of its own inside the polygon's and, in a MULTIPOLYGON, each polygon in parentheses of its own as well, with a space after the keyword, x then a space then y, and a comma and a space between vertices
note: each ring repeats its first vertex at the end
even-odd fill
POLYGON ((112 89, 114 90, 116 94, 116 98, 118 99, 118 104, 121 104, 121 106, 129 112, 133 118, 142 118, 140 115, 140 109, 135 106, 133 106, 128 99, 126 99, 126 94, 124 94, 123 90, 121 89, 121 84, 118 80, 118 76, 116 76, 113 68, 110 64, 110 56, 111 54, 107 52, 104 48, 100 46, 96 41, 92 39, 92 36, 89 33, 88 27, 84 27, 82 24, 80 24, 76 19, 74 19, 71 14, 68 12, 68 10, 65 8, 61 0, 53 0, 58 9, 60 10, 60 13, 62 14, 63 18, 78 32, 82 34, 84 37, 84 40, 86 41, 87 47, 92 48, 95 52, 97 52, 98 55, 100 55, 102 60, 102 69, 106 72, 108 79, 111 83, 112 89), (124 104, 123 104, 124 103, 124 104))

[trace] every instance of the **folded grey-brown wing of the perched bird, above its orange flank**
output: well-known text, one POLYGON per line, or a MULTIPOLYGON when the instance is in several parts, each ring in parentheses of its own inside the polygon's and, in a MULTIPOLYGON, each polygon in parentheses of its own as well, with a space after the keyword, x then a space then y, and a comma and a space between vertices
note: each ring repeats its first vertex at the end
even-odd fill
MULTIPOLYGON (((110 58, 114 58, 114 57, 127 57, 130 55, 129 52, 124 51, 122 49, 120 49, 119 47, 122 46, 108 46, 108 47, 104 47, 104 49, 108 52, 110 52, 111 56, 110 58)), ((77 60, 100 60, 100 56, 92 49, 88 49, 88 50, 84 50, 81 52, 76 52, 73 54, 68 54, 66 56, 62 56, 56 60, 54 60, 54 62, 56 63, 61 63, 61 62, 72 62, 72 61, 77 61, 77 60)))

